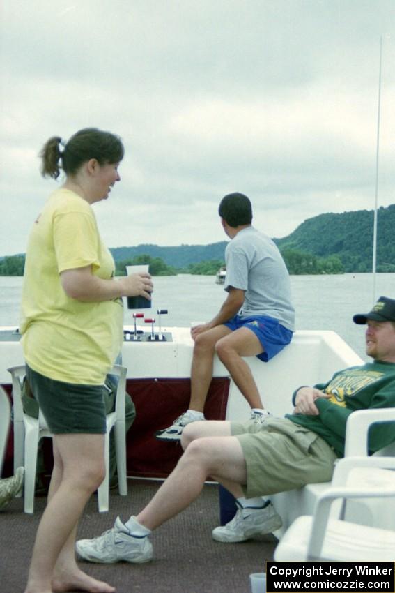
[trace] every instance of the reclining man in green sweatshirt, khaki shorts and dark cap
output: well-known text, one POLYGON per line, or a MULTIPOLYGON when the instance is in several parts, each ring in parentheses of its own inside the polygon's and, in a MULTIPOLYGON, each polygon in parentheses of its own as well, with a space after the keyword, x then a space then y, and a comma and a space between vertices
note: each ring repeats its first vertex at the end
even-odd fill
MULTIPOLYGON (((293 393, 293 414, 257 424, 193 422, 183 430, 185 452, 153 499, 126 523, 94 539, 77 541, 77 552, 91 562, 148 562, 149 535, 183 511, 208 479, 218 481, 236 499, 238 511, 212 537, 224 543, 245 541, 281 527, 281 518, 263 496, 330 481, 344 454, 346 421, 355 410, 395 407, 395 299, 381 296, 366 314, 366 354, 372 362, 341 370, 325 383, 293 393)), ((371 453, 395 441, 394 423, 369 432, 371 453)))

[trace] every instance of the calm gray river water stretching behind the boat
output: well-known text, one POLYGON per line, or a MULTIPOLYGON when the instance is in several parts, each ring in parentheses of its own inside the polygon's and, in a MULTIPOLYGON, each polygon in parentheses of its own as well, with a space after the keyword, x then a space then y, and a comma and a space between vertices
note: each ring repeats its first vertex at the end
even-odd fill
MULTIPOLYGON (((194 321, 209 321, 226 296, 214 276, 162 276, 154 280, 153 307, 146 317, 162 315, 162 327, 190 326, 194 321)), ((376 275, 373 297, 373 275, 347 273, 336 276, 291 276, 297 329, 331 329, 339 333, 355 352, 364 354, 364 327, 353 323, 354 313, 366 313, 379 296, 395 298, 395 273, 376 275)), ((0 276, 0 326, 19 324, 22 278, 0 276)), ((126 308, 125 324, 133 323, 126 308)))

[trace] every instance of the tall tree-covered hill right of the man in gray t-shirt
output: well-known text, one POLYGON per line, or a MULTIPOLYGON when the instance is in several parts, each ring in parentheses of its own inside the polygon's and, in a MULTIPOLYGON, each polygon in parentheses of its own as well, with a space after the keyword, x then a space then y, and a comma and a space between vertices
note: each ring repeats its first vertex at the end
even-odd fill
MULTIPOLYGON (((320 214, 281 239, 281 251, 337 255, 346 272, 367 272, 373 259, 373 210, 320 214)), ((377 270, 395 272, 395 204, 378 209, 377 270)))

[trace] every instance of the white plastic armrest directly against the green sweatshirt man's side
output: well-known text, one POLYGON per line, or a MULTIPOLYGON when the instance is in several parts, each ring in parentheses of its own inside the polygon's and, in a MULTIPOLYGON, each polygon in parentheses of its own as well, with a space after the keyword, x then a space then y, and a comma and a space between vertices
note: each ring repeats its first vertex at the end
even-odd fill
POLYGON ((367 456, 369 428, 375 422, 395 421, 395 408, 379 410, 356 410, 348 416, 346 424, 346 447, 344 455, 367 456))

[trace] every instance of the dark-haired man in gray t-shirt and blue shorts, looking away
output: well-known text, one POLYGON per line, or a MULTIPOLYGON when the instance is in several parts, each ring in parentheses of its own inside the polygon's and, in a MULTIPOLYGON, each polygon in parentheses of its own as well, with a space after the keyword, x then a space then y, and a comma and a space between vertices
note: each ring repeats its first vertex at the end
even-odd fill
POLYGON ((228 293, 213 319, 192 329, 194 356, 191 398, 187 412, 155 433, 159 440, 179 441, 184 426, 205 420, 203 414, 212 379, 212 359, 217 353, 242 395, 251 406, 251 418, 262 423, 269 412, 251 370, 243 360, 257 356, 269 361, 291 342, 295 310, 291 304, 288 270, 276 244, 252 225, 252 208, 242 193, 226 195, 219 216, 231 239, 226 246, 228 293))

